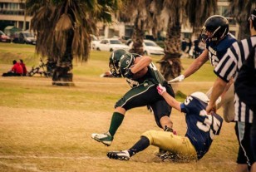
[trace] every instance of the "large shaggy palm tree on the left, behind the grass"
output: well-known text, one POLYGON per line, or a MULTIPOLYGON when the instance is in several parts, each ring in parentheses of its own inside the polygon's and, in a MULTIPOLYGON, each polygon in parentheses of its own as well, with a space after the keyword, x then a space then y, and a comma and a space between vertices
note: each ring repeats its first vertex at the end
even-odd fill
POLYGON ((118 0, 27 0, 32 13, 31 27, 37 33, 36 51, 57 63, 52 84, 72 86, 72 61, 87 61, 90 34, 96 22, 111 22, 118 0))

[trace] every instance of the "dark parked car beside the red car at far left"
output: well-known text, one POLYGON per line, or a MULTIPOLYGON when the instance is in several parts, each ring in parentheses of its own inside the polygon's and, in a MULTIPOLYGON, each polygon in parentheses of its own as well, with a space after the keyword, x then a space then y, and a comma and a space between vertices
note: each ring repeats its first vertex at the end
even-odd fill
POLYGON ((36 45, 37 39, 32 32, 15 32, 12 42, 36 45))

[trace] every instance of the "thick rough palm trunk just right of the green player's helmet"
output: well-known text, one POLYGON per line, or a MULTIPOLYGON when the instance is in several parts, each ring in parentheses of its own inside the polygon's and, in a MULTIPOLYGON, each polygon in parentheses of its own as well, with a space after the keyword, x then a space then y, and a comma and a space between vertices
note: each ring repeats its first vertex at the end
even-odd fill
POLYGON ((160 61, 157 61, 160 63, 160 72, 167 81, 180 76, 182 69, 180 61, 180 23, 170 26, 169 21, 168 25, 165 39, 165 56, 160 61))

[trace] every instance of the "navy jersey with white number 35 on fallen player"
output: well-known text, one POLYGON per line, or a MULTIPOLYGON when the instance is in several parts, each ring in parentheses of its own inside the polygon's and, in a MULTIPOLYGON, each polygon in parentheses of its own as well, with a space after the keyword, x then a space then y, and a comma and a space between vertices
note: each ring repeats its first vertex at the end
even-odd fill
POLYGON ((215 135, 219 135, 223 119, 217 114, 208 115, 205 111, 207 104, 199 99, 188 96, 181 104, 181 111, 185 112, 187 132, 197 152, 198 160, 209 150, 215 135))

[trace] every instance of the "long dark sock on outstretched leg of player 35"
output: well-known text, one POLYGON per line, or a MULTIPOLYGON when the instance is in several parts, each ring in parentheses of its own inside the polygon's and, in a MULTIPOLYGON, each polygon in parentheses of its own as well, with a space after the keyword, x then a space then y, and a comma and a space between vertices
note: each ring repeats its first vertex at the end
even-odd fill
POLYGON ((150 140, 145 137, 141 136, 140 140, 133 145, 130 150, 128 150, 130 157, 137 154, 138 152, 145 150, 150 145, 150 140))

